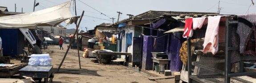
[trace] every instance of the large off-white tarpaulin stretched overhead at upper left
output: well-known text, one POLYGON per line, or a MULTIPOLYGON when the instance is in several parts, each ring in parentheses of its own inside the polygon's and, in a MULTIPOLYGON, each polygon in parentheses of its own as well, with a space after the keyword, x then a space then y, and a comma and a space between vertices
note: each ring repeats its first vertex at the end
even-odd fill
POLYGON ((68 1, 40 11, 0 17, 0 28, 34 29, 35 26, 57 26, 64 21, 71 24, 74 18, 70 12, 70 4, 71 1, 68 1))

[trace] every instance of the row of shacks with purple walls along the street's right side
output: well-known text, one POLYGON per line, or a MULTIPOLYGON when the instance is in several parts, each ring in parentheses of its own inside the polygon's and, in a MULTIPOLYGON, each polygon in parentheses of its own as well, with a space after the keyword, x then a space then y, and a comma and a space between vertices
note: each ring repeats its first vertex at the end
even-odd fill
MULTIPOLYGON (((181 72, 181 82, 253 83, 256 73, 253 66, 256 60, 253 16, 255 14, 146 11, 115 24, 102 23, 99 26, 104 28, 96 26, 94 30, 84 34, 90 33, 89 35, 96 36, 96 39, 116 35, 116 43, 113 44, 116 48, 110 50, 131 53, 129 67, 138 68, 142 72, 156 69, 154 53, 163 52, 169 60, 165 66, 166 70, 181 72), (220 19, 212 21, 209 16, 220 16, 220 19), (186 30, 185 20, 190 18, 204 18, 200 29, 186 30), (218 25, 212 26, 213 24, 218 25), (211 30, 213 27, 217 27, 217 30, 211 30), (187 31, 192 34, 184 38, 184 32, 187 31), (205 38, 209 41, 209 35, 215 35, 215 42, 206 44, 215 46, 205 48, 203 44, 205 38), (204 51, 206 49, 214 51, 204 51)), ((107 48, 108 46, 105 46, 105 49, 107 48)))

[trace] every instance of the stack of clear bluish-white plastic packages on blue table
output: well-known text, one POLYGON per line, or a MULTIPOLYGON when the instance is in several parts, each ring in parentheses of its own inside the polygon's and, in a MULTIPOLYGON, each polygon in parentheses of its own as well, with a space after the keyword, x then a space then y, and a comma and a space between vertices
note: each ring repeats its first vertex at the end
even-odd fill
POLYGON ((51 66, 52 59, 49 54, 32 54, 31 58, 28 60, 28 66, 51 66))

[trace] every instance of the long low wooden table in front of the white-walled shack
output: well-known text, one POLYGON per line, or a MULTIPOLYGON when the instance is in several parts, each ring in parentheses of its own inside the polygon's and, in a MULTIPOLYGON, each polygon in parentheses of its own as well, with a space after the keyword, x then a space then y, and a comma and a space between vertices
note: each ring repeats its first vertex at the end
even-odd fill
POLYGON ((131 56, 131 53, 97 51, 97 57, 100 60, 100 64, 102 64, 102 56, 111 56, 111 55, 125 55, 125 58, 127 61, 128 60, 127 56, 131 56))

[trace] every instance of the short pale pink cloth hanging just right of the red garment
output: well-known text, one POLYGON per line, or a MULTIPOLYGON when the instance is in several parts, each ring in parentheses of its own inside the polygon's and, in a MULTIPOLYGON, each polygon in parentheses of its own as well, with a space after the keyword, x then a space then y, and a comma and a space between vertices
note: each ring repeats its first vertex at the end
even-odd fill
POLYGON ((193 29, 196 30, 197 28, 201 29, 203 26, 204 19, 206 17, 202 18, 193 18, 193 29))

